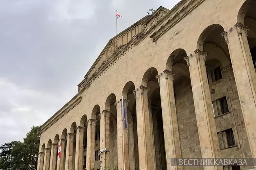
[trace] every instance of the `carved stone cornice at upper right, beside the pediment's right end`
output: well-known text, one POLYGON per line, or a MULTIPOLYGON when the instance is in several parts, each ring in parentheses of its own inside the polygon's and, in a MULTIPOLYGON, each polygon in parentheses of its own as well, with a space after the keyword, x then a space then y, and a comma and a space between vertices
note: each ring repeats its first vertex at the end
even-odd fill
MULTIPOLYGON (((153 41, 156 41, 158 38, 160 38, 165 32, 167 32, 171 27, 173 27, 176 23, 178 23, 182 18, 184 18, 187 14, 189 14, 194 8, 196 8, 198 5, 200 5, 204 0, 191 0, 184 8, 182 8, 180 11, 178 11, 171 19, 169 19, 166 23, 161 26, 156 32, 154 32, 150 38, 152 38, 153 41)), ((172 10, 171 10, 172 11, 172 10)), ((167 13, 167 15, 162 19, 165 20, 168 17, 170 17, 173 13, 167 13)))

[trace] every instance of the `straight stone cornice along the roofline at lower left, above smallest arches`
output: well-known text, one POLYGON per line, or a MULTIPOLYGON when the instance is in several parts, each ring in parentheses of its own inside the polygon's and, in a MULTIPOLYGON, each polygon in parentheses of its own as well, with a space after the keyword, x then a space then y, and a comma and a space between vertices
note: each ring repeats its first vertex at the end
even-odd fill
POLYGON ((65 104, 57 113, 55 113, 52 117, 50 117, 50 119, 48 119, 46 123, 43 123, 40 134, 45 132, 51 125, 56 123, 56 121, 61 119, 61 117, 63 117, 66 113, 68 113, 72 108, 78 105, 81 101, 82 101, 82 96, 79 96, 74 102, 71 103, 71 101, 69 101, 67 104, 65 104))

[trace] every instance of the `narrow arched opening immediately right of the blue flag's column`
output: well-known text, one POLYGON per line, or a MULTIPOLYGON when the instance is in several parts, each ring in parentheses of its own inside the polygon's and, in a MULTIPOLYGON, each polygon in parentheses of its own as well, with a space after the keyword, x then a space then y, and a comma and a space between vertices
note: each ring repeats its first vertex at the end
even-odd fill
POLYGON ((123 89, 123 98, 128 100, 127 119, 128 119, 128 146, 129 146, 129 165, 130 169, 139 170, 139 148, 137 131, 136 99, 133 94, 135 85, 132 81, 126 83, 123 89))

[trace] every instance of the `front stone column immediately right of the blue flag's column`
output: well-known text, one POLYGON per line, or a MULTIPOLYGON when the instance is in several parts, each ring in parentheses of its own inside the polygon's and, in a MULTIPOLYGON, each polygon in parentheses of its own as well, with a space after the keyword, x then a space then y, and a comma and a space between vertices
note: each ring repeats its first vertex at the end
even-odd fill
POLYGON ((153 169, 148 91, 149 88, 145 86, 140 86, 140 89, 133 91, 136 99, 140 170, 153 169))

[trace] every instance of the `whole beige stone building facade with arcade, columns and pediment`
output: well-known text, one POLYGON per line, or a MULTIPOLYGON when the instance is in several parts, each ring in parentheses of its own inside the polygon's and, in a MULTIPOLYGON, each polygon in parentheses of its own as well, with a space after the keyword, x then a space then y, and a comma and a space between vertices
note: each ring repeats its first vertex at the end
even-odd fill
POLYGON ((232 170, 171 159, 255 158, 255 8, 182 0, 111 38, 43 124, 38 170, 232 170))

